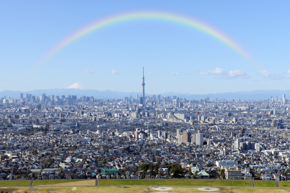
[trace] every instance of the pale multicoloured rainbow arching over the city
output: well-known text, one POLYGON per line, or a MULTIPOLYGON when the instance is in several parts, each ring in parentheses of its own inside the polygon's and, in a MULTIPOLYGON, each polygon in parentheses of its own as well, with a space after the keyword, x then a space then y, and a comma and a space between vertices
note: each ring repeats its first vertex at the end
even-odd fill
POLYGON ((212 38, 220 41, 227 47, 231 48, 234 52, 242 56, 244 59, 249 61, 254 66, 258 67, 258 64, 255 60, 235 41, 231 38, 220 32, 219 30, 215 29, 214 27, 207 25, 202 21, 198 21, 197 19, 188 18, 185 16, 181 16, 178 14, 168 13, 168 12, 156 12, 156 11, 141 11, 141 12, 129 12, 123 13, 119 15, 113 15, 110 17, 106 17, 104 19, 97 20, 90 25, 87 25, 80 30, 77 30, 60 43, 58 43, 55 47, 53 47, 49 52, 47 52, 36 64, 36 68, 39 68, 41 65, 44 65, 49 59, 55 56, 64 48, 68 47, 69 45, 73 44, 75 41, 97 31, 101 30, 105 27, 123 23, 128 21, 135 21, 135 20, 159 20, 159 21, 168 21, 177 23, 180 25, 188 26, 194 28, 204 34, 211 36, 212 38))

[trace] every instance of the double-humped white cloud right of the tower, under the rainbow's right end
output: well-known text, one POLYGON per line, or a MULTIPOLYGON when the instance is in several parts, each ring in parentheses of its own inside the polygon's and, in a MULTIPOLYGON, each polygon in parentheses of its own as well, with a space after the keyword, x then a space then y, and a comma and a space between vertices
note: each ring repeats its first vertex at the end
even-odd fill
POLYGON ((200 72, 202 76, 205 75, 213 75, 213 76, 222 76, 222 78, 250 78, 246 72, 241 70, 231 70, 231 71, 224 71, 221 68, 216 68, 214 70, 209 70, 207 72, 200 72))

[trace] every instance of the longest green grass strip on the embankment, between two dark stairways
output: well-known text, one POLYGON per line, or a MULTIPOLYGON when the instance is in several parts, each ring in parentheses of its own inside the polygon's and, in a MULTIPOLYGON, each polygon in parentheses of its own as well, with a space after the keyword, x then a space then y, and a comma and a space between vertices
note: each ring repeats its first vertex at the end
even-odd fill
POLYGON ((98 185, 148 185, 148 186, 247 186, 249 180, 197 180, 197 179, 103 179, 98 185))

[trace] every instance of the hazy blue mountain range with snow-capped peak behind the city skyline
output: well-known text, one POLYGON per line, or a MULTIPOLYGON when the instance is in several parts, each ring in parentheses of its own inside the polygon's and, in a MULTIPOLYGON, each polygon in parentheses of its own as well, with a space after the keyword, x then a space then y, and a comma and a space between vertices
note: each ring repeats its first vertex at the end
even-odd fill
MULTIPOLYGON (((80 97, 82 95, 85 96, 94 96, 95 98, 104 99, 104 98, 124 98, 130 97, 136 98, 136 94, 139 97, 142 95, 141 92, 120 92, 120 91, 98 91, 98 90, 89 90, 84 87, 80 83, 75 83, 65 89, 38 89, 33 91, 10 91, 5 90, 0 92, 0 97, 6 96, 6 98, 13 97, 19 98, 19 93, 23 93, 25 97, 26 93, 40 96, 42 93, 46 93, 46 95, 77 95, 80 97)), ((204 99, 209 97, 210 99, 248 99, 248 100, 260 100, 260 99, 270 99, 271 96, 275 99, 275 96, 278 96, 278 99, 282 98, 282 94, 289 97, 290 90, 254 90, 254 91, 239 91, 239 92, 225 92, 225 93, 209 93, 209 94, 190 94, 190 93, 175 93, 175 92, 168 92, 168 93, 156 93, 156 95, 166 95, 166 96, 177 96, 179 98, 186 98, 186 99, 204 99)), ((152 94, 146 94, 146 96, 152 96, 152 94)))

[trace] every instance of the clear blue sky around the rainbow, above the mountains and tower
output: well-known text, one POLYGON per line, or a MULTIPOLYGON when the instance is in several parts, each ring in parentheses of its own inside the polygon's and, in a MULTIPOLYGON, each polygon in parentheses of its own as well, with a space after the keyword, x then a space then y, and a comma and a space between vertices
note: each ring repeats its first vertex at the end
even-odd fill
POLYGON ((290 89, 290 1, 1 1, 0 91, 66 88, 217 93, 290 89), (259 67, 193 28, 136 20, 97 30, 41 58, 70 34, 116 14, 160 11, 218 29, 259 67))

